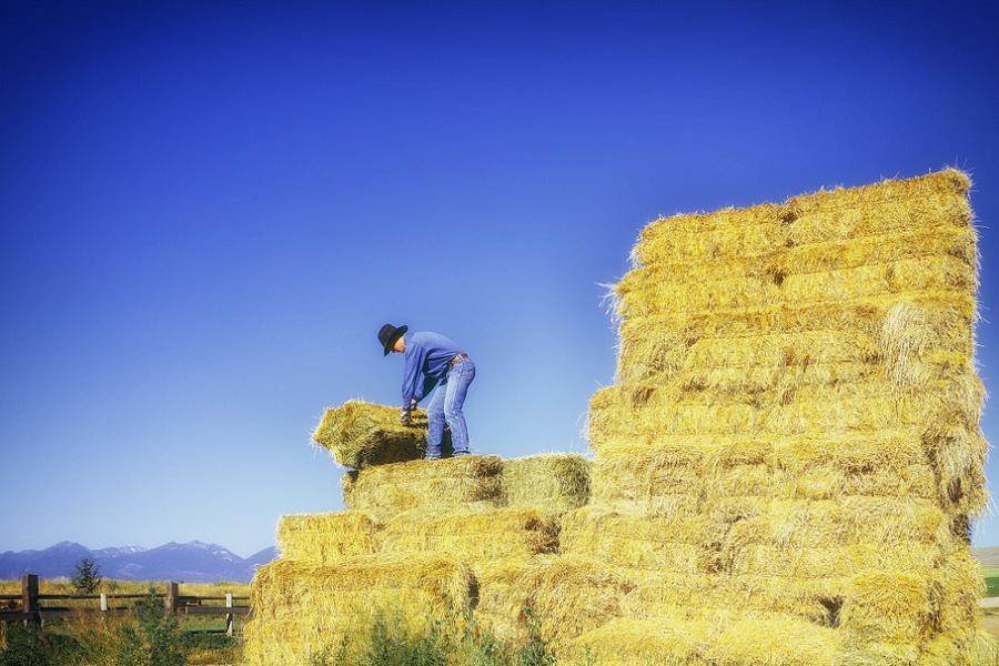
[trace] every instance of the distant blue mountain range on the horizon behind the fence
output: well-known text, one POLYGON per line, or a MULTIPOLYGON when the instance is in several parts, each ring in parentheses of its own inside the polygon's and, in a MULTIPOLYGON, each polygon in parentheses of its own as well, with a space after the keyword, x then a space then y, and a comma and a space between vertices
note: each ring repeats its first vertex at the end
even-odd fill
POLYGON ((178 583, 249 583, 256 567, 276 557, 275 547, 240 557, 216 544, 170 542, 155 548, 122 546, 91 551, 74 542, 60 542, 42 551, 0 553, 0 579, 38 574, 42 578, 72 576, 77 562, 92 558, 105 578, 119 581, 175 581, 178 583))

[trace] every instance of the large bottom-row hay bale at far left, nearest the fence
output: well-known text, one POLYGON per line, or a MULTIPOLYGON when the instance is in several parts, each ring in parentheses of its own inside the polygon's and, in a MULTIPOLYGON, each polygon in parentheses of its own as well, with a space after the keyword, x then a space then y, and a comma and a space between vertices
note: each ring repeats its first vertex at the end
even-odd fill
MULTIPOLYGON (((408 636, 471 609, 471 572, 440 555, 363 556, 332 566, 279 559, 256 571, 246 627, 250 666, 309 664, 342 645, 362 649, 373 618, 397 618, 408 636)), ((461 629, 461 627, 457 627, 461 629)))

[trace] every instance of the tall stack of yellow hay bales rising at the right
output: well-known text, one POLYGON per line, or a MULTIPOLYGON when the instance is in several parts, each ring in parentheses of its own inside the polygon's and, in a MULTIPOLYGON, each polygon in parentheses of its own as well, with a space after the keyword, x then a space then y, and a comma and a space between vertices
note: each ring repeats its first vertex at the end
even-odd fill
POLYGON ((648 225, 562 552, 634 588, 598 664, 970 664, 986 503, 967 176, 648 225))

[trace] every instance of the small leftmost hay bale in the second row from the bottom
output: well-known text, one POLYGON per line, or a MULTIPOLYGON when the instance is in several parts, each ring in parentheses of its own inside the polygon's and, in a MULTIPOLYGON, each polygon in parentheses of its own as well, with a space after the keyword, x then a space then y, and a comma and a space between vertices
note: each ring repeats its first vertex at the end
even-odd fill
POLYGON ((334 564, 376 553, 377 532, 362 512, 285 515, 278 521, 278 548, 284 559, 334 564))

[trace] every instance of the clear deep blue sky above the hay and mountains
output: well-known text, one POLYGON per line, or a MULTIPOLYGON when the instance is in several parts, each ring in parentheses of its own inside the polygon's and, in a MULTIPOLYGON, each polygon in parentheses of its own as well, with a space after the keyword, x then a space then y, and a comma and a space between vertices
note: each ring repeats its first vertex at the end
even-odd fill
POLYGON ((385 321, 467 346, 480 451, 582 451, 646 222, 950 164, 996 389, 996 3, 173 4, 0 8, 0 551, 339 508, 385 321))

